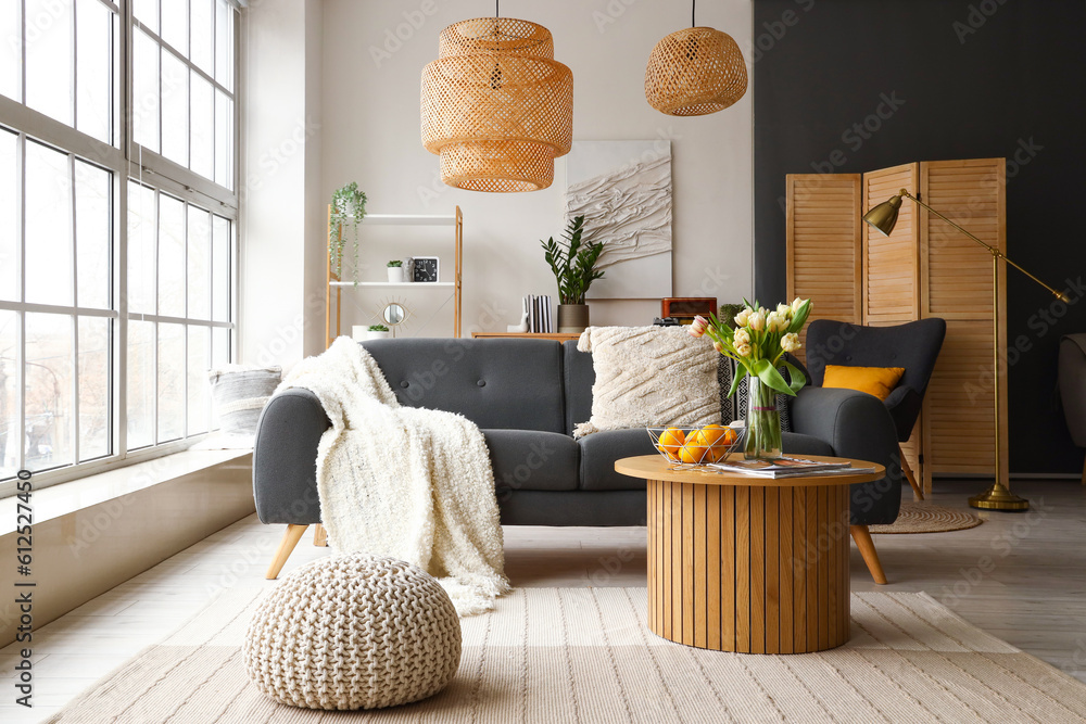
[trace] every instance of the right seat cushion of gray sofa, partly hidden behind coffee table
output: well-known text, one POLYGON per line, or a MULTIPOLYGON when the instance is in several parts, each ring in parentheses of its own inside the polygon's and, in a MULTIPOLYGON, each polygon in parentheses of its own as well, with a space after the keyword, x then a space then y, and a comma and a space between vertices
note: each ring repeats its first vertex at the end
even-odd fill
MULTIPOLYGON (((782 433, 781 443, 790 455, 833 455, 828 443, 797 432, 782 433)), ((615 472, 615 461, 637 455, 659 455, 644 428, 594 432, 577 444, 581 446, 582 491, 643 491, 645 481, 615 472)))

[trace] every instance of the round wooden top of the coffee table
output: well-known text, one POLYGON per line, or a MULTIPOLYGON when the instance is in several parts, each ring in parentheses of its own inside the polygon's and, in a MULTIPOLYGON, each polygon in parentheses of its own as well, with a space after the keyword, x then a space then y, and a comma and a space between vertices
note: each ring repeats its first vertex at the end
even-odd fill
POLYGON ((712 468, 680 467, 669 462, 662 455, 641 455, 622 458, 615 461, 615 470, 631 478, 645 480, 667 480, 673 483, 700 483, 703 485, 744 485, 748 487, 803 487, 808 485, 849 485, 851 483, 870 483, 886 477, 886 468, 867 460, 851 458, 834 458, 825 455, 797 455, 805 460, 819 462, 851 462, 857 468, 874 467, 871 473, 847 473, 842 475, 804 475, 796 478, 762 478, 760 475, 744 475, 738 472, 724 472, 712 468))

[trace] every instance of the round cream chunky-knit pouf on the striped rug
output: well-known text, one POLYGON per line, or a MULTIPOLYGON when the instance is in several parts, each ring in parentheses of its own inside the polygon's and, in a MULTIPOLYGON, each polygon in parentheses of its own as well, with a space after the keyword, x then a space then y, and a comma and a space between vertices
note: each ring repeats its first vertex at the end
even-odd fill
POLYGON ((243 652, 249 678, 276 701, 378 709, 449 684, 460 663, 460 622, 425 571, 352 554, 283 577, 257 608, 243 652))

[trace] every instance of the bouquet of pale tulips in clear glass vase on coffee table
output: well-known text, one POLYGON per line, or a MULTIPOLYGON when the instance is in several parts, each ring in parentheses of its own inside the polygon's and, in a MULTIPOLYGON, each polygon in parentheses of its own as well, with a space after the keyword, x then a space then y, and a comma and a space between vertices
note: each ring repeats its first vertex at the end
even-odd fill
POLYGON ((799 343, 799 330, 810 315, 810 300, 796 299, 791 305, 779 304, 769 310, 755 301, 745 306, 728 321, 710 314, 709 318, 695 317, 687 331, 694 336, 707 335, 714 348, 725 357, 738 363, 732 380, 733 396, 740 382, 748 379, 747 430, 745 455, 747 458, 773 459, 781 456, 781 417, 776 411, 776 393, 795 396, 807 379, 795 365, 783 361, 792 378, 791 384, 778 371, 785 352, 795 352, 799 343))

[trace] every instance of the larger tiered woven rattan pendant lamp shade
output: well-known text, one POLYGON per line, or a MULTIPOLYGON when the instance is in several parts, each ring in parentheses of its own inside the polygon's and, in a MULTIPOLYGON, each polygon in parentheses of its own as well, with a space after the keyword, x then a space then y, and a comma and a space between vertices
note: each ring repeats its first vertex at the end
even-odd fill
POLYGON ((551 31, 509 17, 441 31, 422 71, 422 145, 441 180, 469 191, 536 191, 573 138, 573 74, 554 60, 551 31))

